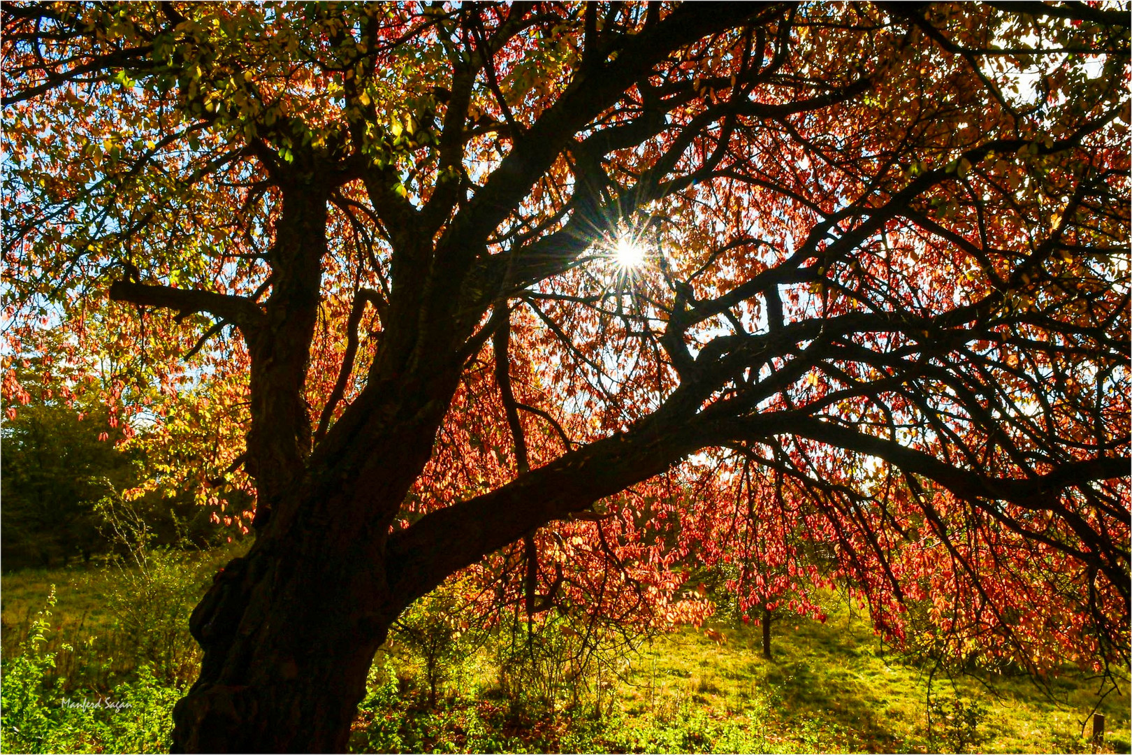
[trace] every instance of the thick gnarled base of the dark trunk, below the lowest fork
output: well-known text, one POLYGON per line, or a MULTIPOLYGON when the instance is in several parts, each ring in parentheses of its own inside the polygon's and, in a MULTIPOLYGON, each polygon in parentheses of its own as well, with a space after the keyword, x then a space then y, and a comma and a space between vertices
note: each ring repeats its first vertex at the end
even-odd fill
POLYGON ((345 752, 402 607, 385 583, 387 523, 326 516, 343 501, 318 503, 321 516, 285 542, 269 530, 229 563, 192 612, 205 655, 174 709, 173 752, 345 752))

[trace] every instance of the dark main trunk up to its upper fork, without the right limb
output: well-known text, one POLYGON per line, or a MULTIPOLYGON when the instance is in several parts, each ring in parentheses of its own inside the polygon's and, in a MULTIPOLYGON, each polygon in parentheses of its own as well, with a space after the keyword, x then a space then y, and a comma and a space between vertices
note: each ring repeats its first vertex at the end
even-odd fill
POLYGON ((415 598, 389 589, 388 532, 434 429, 395 424, 367 445, 369 464, 316 455, 275 498, 192 612, 204 661, 174 711, 174 752, 345 750, 374 653, 415 598))

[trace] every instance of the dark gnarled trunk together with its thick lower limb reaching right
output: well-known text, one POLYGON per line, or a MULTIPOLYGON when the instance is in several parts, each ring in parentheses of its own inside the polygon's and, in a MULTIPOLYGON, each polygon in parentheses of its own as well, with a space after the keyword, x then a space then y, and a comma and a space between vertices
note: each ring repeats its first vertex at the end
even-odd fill
POLYGON ((381 405, 362 406, 389 418, 380 430, 354 422, 355 402, 290 479, 252 549, 192 612, 205 655, 173 712, 173 752, 344 752, 374 653, 410 602, 532 527, 658 474, 713 428, 689 428, 678 411, 701 396, 670 400, 629 432, 391 535, 454 389, 443 376, 391 386, 381 405))

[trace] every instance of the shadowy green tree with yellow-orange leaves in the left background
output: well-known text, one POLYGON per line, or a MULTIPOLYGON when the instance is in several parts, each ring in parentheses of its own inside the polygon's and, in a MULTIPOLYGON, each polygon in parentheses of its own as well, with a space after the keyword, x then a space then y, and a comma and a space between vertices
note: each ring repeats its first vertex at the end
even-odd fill
POLYGON ((121 376, 101 359, 105 349, 79 359, 80 350, 67 348, 59 335, 53 331, 36 350, 7 359, 8 405, 0 429, 3 568, 105 552, 115 541, 101 513, 106 503, 127 505, 148 527, 153 544, 206 546, 241 537, 231 514, 248 508, 249 496, 226 486, 223 475, 201 484, 214 465, 208 445, 217 434, 190 431, 186 422, 200 415, 208 391, 198 386, 182 394, 179 417, 157 422, 157 412, 168 411, 164 402, 123 392, 121 376), (84 361, 100 369, 91 371, 84 361), (199 505, 221 504, 208 495, 221 486, 223 507, 199 505))

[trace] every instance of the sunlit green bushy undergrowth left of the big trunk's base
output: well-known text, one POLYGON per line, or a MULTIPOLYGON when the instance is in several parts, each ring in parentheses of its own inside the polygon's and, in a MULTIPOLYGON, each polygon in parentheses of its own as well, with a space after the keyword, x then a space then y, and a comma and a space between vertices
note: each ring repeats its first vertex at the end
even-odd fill
MULTIPOLYGON (((168 547, 135 511, 102 501, 118 555, 109 566, 100 636, 51 636, 48 606, 2 660, 2 752, 149 753, 171 745, 173 705, 196 675, 199 650, 188 617, 208 566, 168 547)), ((82 624, 82 623, 80 623, 82 624)))

